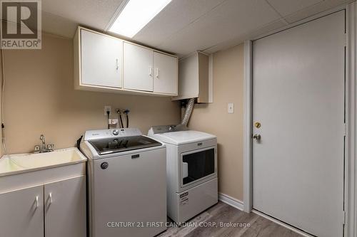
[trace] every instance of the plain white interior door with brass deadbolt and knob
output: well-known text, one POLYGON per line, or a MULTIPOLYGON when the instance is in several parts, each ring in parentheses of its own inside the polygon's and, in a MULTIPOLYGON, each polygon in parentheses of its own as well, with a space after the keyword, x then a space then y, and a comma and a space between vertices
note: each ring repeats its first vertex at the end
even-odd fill
POLYGON ((344 37, 338 11, 253 42, 253 209, 315 236, 343 235, 344 37))

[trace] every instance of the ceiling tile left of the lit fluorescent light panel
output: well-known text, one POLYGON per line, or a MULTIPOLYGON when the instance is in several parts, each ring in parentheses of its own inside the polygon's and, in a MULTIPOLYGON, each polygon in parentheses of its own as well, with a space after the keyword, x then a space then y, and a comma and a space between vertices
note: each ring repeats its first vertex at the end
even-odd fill
POLYGON ((44 0, 42 11, 103 30, 123 0, 44 0))

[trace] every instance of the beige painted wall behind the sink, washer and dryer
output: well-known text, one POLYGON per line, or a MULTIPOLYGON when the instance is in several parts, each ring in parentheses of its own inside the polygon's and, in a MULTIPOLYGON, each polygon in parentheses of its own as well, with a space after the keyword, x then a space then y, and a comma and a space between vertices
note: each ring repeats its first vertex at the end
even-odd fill
MULTIPOLYGON (((72 41, 43 35, 42 50, 4 51, 4 119, 9 153, 31 152, 39 135, 57 148, 73 147, 86 130, 105 129, 104 105, 128 107, 130 125, 179 122, 170 98, 74 90, 72 41)), ((213 103, 195 105, 191 129, 218 137, 219 191, 243 200, 243 46, 213 56, 213 103), (234 102, 233 114, 227 103, 234 102)))

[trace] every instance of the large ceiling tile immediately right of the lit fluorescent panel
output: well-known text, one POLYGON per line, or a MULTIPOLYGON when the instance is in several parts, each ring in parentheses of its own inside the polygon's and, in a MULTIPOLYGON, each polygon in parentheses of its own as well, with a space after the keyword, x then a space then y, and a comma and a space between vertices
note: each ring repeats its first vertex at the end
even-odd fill
POLYGON ((240 38, 280 18, 263 0, 227 0, 205 16, 166 38, 159 48, 186 55, 240 38))

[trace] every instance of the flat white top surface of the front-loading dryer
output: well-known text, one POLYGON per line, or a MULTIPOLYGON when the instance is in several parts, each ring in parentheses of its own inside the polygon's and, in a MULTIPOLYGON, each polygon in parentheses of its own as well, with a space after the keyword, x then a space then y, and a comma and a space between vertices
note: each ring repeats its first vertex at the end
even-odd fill
POLYGON ((201 142, 208 139, 216 139, 215 135, 193 130, 156 133, 153 137, 159 139, 161 142, 176 145, 201 142))

